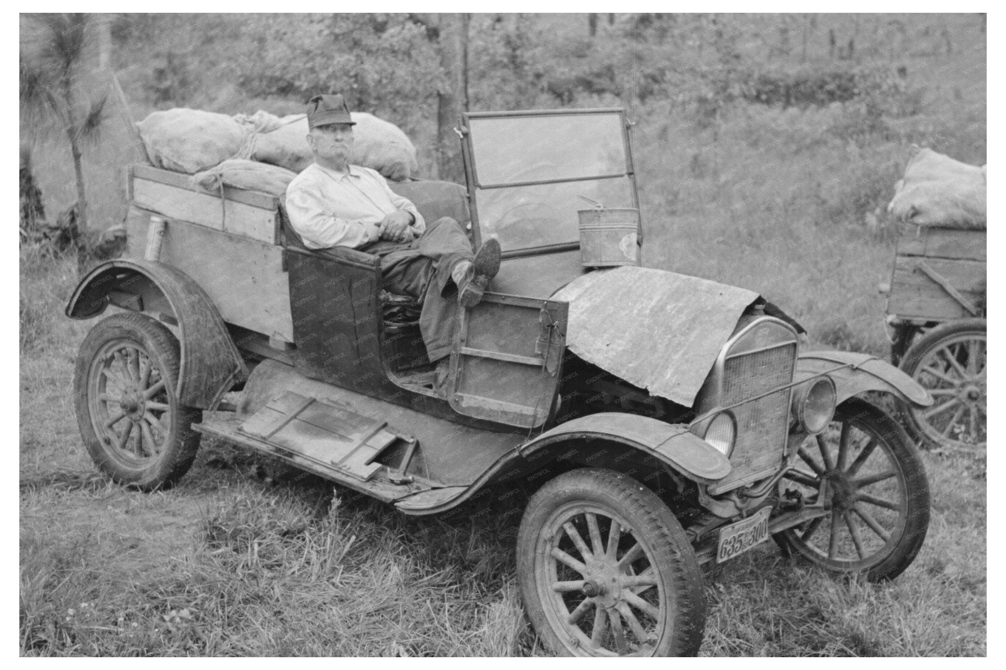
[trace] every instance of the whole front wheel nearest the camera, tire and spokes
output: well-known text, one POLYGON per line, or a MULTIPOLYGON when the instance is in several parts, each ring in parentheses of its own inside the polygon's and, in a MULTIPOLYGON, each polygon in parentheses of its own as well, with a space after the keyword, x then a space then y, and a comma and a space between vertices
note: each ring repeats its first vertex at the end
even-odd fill
POLYGON ((634 479, 582 469, 528 502, 517 538, 535 630, 573 656, 688 656, 705 625, 702 578, 670 510, 634 479))

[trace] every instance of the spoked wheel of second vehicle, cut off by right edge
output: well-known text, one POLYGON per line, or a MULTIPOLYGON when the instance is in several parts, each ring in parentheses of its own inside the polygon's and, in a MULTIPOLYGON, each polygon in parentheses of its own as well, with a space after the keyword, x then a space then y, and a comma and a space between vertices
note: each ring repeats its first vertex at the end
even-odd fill
POLYGON ((961 319, 918 338, 901 369, 934 397, 929 407, 901 402, 909 434, 929 449, 985 450, 985 319, 961 319))

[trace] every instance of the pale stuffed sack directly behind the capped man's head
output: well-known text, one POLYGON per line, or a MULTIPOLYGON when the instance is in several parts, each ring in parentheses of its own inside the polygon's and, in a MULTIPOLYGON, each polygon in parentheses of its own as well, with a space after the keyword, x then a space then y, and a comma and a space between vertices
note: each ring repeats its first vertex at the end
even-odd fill
MULTIPOLYGON (((353 153, 349 162, 368 167, 391 181, 404 181, 415 174, 415 146, 400 128, 365 112, 353 112, 353 153)), ((306 115, 284 117, 284 125, 256 138, 253 158, 300 172, 314 156, 308 146, 306 115)))

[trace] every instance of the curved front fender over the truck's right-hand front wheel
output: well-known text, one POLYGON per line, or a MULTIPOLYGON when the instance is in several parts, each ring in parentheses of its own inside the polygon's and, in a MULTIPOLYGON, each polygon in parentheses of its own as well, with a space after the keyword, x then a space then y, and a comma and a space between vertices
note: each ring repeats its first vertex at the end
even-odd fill
POLYGON ((933 396, 918 382, 876 356, 853 351, 802 352, 797 360, 794 380, 823 372, 827 372, 835 382, 837 402, 873 390, 893 393, 918 407, 933 404, 933 396))

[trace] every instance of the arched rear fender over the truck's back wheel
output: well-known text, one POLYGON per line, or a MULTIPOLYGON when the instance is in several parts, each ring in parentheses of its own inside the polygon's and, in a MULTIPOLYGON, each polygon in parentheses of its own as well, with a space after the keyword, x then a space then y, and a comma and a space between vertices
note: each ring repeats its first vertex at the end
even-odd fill
POLYGON ((247 368, 209 297, 181 271, 152 261, 109 261, 92 270, 66 305, 66 316, 90 319, 102 314, 113 291, 152 291, 167 302, 178 322, 181 365, 179 401, 209 409, 231 386, 247 376, 247 368), (153 287, 150 287, 150 285, 153 287))

